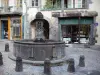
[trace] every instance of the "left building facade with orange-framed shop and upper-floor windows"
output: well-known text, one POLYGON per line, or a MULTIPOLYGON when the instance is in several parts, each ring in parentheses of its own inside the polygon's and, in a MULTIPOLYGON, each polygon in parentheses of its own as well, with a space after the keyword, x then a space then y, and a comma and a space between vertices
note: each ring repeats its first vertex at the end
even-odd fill
POLYGON ((22 39, 22 0, 0 0, 0 39, 22 39))

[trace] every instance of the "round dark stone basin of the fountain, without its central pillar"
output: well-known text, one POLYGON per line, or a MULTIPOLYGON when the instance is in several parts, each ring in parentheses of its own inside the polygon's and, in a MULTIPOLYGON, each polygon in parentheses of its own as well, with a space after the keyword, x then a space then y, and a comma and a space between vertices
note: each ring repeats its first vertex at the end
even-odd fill
POLYGON ((34 40, 14 41, 13 54, 15 57, 21 57, 25 60, 44 61, 60 60, 65 57, 65 43, 45 40, 45 42, 34 42, 34 40))

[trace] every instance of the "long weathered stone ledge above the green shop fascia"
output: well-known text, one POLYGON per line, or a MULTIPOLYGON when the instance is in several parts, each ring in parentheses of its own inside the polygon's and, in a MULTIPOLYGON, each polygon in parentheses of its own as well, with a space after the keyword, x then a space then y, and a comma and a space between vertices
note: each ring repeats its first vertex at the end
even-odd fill
POLYGON ((70 11, 70 12, 52 12, 53 17, 80 17, 80 16, 88 16, 94 17, 97 16, 97 12, 95 11, 87 11, 83 14, 83 12, 79 11, 70 11))

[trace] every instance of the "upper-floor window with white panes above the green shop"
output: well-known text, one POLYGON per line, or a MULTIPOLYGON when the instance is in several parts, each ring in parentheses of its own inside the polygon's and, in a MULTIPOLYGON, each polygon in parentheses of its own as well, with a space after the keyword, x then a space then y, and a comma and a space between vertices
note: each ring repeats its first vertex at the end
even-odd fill
POLYGON ((65 8, 85 8, 86 0, 64 0, 65 8))

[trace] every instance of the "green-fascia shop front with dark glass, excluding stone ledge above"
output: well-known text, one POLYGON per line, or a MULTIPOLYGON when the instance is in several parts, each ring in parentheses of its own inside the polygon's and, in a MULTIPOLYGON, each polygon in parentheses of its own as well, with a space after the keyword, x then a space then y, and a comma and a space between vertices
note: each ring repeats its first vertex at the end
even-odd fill
POLYGON ((91 33, 93 17, 59 18, 61 37, 66 43, 87 43, 91 33))

